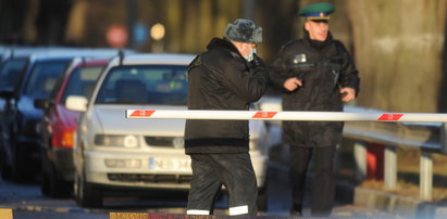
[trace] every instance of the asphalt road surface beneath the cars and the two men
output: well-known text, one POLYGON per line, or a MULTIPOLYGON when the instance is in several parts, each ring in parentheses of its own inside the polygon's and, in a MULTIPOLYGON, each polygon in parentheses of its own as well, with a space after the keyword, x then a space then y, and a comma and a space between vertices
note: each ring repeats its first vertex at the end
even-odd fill
MULTIPOLYGON (((290 186, 286 177, 287 168, 275 164, 270 168, 274 173, 269 178, 269 210, 261 216, 288 217, 290 186)), ((77 206, 73 198, 54 199, 44 196, 37 180, 29 183, 0 180, 0 208, 12 208, 14 219, 105 219, 110 212, 184 214, 186 202, 186 193, 158 192, 142 197, 111 196, 105 198, 103 208, 89 209, 77 206)), ((227 197, 223 195, 216 203, 215 215, 227 214, 226 203, 227 197)), ((305 207, 305 216, 309 216, 308 206, 305 207)), ((332 216, 399 218, 387 212, 340 203, 336 204, 332 216)))

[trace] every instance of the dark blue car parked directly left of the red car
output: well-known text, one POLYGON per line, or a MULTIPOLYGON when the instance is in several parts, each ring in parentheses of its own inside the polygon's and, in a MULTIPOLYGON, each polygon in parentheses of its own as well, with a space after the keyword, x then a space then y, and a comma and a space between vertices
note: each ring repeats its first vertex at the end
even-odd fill
MULTIPOLYGON (((116 50, 58 49, 27 55, 26 67, 20 73, 12 91, 0 91, 7 104, 1 119, 2 177, 26 180, 39 172, 40 156, 36 125, 42 111, 34 105, 35 99, 50 96, 55 81, 70 62, 83 55, 116 55, 116 50)), ((20 59, 20 56, 14 56, 20 59)))

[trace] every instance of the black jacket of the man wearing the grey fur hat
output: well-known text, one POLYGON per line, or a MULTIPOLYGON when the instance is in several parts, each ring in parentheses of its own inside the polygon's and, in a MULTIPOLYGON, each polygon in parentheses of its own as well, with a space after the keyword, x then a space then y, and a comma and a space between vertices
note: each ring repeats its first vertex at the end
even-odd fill
MULTIPOLYGON (((207 49, 188 66, 188 110, 248 110, 268 87, 260 59, 247 62, 225 39, 212 39, 207 49)), ((186 154, 243 153, 248 144, 248 120, 186 120, 186 154)))

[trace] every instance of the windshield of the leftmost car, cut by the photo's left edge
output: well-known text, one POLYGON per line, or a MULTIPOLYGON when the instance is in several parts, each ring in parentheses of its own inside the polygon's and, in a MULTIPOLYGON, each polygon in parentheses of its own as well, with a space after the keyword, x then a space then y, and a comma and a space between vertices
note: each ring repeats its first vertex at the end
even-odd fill
POLYGON ((4 61, 0 67, 0 89, 12 89, 26 63, 26 59, 4 61))

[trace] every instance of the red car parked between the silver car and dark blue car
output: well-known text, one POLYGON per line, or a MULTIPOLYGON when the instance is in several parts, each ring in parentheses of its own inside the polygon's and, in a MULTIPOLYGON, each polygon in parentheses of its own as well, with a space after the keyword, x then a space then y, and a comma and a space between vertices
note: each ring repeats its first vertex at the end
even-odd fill
POLYGON ((41 191, 51 197, 69 196, 73 189, 73 132, 79 113, 65 107, 69 95, 88 99, 109 60, 76 57, 59 79, 49 99, 35 100, 44 110, 37 126, 40 144, 41 191))

